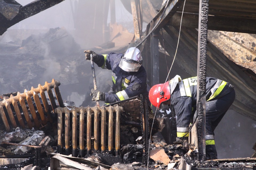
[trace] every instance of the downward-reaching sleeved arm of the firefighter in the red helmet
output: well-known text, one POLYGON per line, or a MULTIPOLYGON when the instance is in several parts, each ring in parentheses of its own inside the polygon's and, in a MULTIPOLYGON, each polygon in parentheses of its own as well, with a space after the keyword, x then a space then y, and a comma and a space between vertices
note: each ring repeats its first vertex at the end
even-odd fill
POLYGON ((188 137, 190 117, 192 115, 192 99, 188 96, 182 96, 172 101, 172 105, 177 116, 177 137, 188 137))

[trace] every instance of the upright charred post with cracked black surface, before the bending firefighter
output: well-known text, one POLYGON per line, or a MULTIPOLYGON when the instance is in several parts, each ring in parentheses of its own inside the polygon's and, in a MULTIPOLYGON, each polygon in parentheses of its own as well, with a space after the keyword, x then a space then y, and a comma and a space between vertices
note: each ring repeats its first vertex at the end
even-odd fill
POLYGON ((205 160, 205 102, 206 102, 206 61, 209 0, 199 1, 198 48, 197 48, 197 125, 198 156, 205 160))

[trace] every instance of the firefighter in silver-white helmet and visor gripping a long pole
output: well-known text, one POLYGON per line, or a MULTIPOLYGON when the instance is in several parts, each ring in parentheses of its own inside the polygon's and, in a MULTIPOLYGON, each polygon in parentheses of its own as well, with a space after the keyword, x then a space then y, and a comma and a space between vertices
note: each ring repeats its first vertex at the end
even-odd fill
POLYGON ((143 95, 148 97, 147 74, 142 66, 142 56, 138 48, 131 47, 125 54, 97 54, 91 50, 84 51, 86 60, 94 53, 93 61, 102 69, 112 71, 113 85, 108 93, 91 90, 92 100, 102 100, 106 104, 143 95))

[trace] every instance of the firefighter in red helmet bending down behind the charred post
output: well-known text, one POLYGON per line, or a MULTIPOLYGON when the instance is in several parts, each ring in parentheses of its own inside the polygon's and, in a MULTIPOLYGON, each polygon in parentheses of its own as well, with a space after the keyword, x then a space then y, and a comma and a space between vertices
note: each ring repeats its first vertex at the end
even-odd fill
MULTIPOLYGON (((152 105, 160 109, 169 104, 177 116, 176 141, 189 137, 189 125, 197 115, 197 77, 181 79, 176 75, 170 81, 154 85, 149 91, 152 105)), ((234 87, 217 78, 206 77, 206 160, 217 159, 214 129, 235 100, 234 87)))

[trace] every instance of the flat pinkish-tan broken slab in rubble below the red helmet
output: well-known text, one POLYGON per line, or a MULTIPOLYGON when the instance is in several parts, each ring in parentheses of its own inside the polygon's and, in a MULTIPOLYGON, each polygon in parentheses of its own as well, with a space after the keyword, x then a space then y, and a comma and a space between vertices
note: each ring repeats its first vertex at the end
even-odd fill
POLYGON ((155 162, 160 162, 165 165, 170 163, 170 158, 165 153, 165 150, 162 148, 155 148, 149 151, 149 157, 153 159, 155 162))

